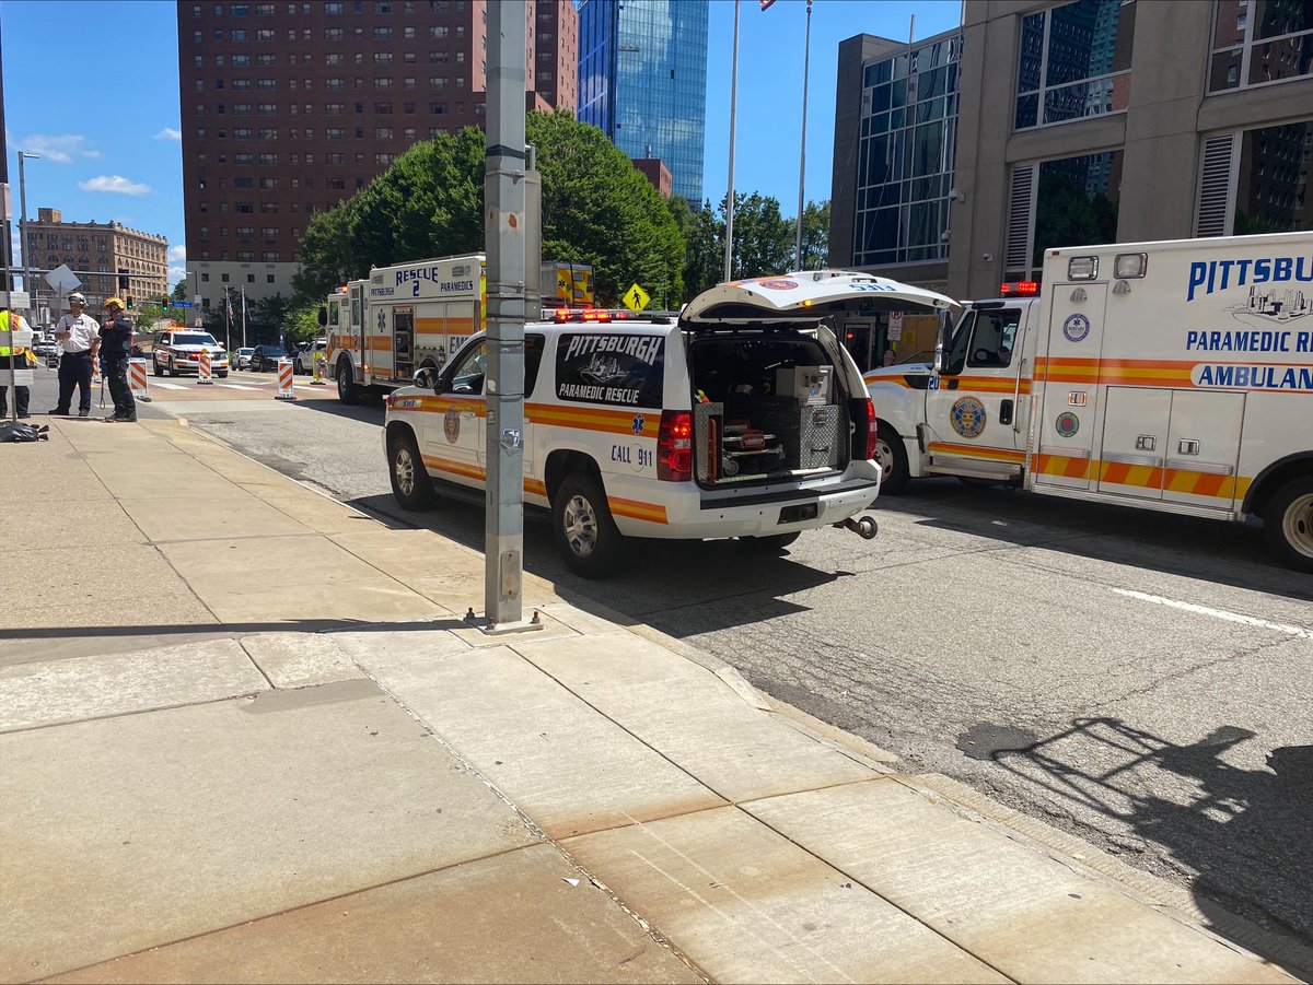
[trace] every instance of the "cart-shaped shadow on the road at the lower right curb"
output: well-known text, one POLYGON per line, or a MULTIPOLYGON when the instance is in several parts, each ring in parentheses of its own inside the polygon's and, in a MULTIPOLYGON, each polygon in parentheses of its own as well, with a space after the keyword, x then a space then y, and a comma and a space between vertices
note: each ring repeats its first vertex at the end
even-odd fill
POLYGON ((1266 769, 1228 761, 1241 758, 1233 750, 1253 738, 1249 729, 1224 725, 1176 745, 1119 719, 1090 717, 1046 738, 983 725, 964 734, 958 748, 1162 846, 1190 875, 1213 933, 1228 936, 1239 913, 1271 931, 1275 946, 1263 954, 1262 942, 1237 943, 1287 965, 1292 952, 1302 951, 1299 971, 1306 976, 1313 972, 1306 950, 1313 943, 1313 745, 1272 749, 1266 769))

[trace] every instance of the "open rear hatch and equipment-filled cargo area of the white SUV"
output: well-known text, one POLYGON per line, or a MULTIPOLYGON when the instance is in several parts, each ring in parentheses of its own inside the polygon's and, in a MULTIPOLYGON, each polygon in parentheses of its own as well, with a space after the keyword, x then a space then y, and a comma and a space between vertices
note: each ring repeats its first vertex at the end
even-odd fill
POLYGON ((704 488, 798 480, 867 456, 874 426, 842 311, 941 311, 948 298, 840 270, 734 281, 680 313, 689 333, 693 477, 704 488), (860 434, 859 434, 860 432, 860 434))

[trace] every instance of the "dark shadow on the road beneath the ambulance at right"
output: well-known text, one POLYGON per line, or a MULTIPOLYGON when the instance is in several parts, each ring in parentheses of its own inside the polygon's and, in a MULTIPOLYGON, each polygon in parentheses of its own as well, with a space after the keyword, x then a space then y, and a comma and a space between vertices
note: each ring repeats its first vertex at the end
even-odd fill
POLYGON ((956 480, 918 480, 876 509, 926 517, 923 526, 957 530, 1018 547, 1128 564, 1313 602, 1313 576, 1280 567, 1258 521, 1224 521, 1037 496, 956 480))

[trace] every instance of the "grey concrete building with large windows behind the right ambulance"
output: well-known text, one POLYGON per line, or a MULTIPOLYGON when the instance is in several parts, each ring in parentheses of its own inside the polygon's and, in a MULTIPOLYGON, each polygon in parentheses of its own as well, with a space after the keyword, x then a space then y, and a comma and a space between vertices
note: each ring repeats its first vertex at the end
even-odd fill
POLYGON ((978 298, 1046 247, 1313 228, 1306 0, 968 0, 911 47, 840 45, 835 266, 978 298))

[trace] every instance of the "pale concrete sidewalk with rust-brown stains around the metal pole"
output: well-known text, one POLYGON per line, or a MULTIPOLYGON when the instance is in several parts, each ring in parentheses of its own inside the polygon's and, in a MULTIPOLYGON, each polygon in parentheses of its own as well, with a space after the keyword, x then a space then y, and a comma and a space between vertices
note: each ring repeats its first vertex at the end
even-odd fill
POLYGON ((56 517, 0 548, 5 981, 1309 967, 538 578, 484 636, 481 555, 183 424, 50 424, 0 446, 56 517))

